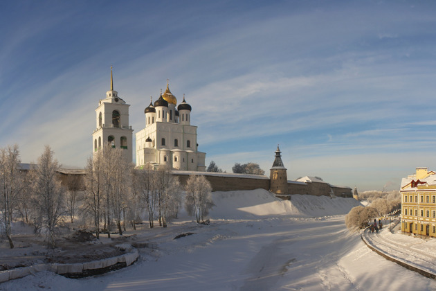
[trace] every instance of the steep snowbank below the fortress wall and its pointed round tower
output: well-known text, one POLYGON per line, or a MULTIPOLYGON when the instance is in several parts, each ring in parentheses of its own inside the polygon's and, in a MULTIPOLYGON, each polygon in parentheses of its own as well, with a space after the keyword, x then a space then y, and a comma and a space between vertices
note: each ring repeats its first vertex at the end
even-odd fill
POLYGON ((353 198, 313 195, 291 195, 281 200, 264 189, 213 192, 215 206, 209 213, 212 219, 251 219, 256 217, 291 215, 321 217, 346 214, 360 203, 353 198))

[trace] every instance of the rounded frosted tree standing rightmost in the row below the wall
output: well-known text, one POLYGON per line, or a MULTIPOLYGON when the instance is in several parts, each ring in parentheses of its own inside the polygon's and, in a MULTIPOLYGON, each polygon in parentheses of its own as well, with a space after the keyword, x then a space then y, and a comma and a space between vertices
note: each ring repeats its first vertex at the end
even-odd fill
POLYGON ((212 186, 206 177, 201 175, 190 175, 185 186, 185 209, 189 215, 195 215, 197 223, 204 221, 213 201, 210 193, 212 186))

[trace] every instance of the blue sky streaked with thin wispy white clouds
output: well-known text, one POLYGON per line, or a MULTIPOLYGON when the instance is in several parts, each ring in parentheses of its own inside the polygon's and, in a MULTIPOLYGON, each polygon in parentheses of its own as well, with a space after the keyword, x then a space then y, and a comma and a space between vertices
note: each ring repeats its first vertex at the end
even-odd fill
MULTIPOLYGON (((199 150, 231 172, 358 191, 436 170, 434 1, 0 1, 0 148, 92 155, 113 87, 134 134, 169 79, 192 106, 199 150)), ((135 155, 134 155, 135 156, 135 155)))

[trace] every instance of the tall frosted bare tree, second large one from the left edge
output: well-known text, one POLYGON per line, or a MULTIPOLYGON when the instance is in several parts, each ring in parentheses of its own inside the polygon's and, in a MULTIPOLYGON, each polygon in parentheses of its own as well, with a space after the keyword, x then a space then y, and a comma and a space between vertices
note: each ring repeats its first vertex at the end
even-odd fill
POLYGON ((33 203, 37 210, 37 223, 48 232, 48 246, 55 247, 55 234, 61 216, 64 214, 64 188, 57 177, 59 168, 53 151, 46 145, 44 152, 38 158, 38 164, 31 169, 33 180, 33 203))

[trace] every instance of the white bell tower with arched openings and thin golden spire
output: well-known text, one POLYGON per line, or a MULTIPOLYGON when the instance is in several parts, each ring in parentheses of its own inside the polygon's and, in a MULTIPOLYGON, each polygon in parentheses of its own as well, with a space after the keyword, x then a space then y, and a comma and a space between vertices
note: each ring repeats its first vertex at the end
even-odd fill
POLYGON ((132 161, 133 130, 129 125, 129 106, 113 90, 111 67, 111 89, 106 92, 105 99, 100 99, 96 109, 96 130, 92 134, 93 152, 102 150, 103 145, 109 143, 112 148, 122 148, 127 161, 132 161))

